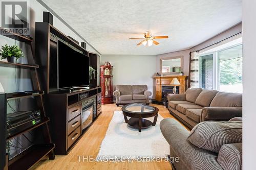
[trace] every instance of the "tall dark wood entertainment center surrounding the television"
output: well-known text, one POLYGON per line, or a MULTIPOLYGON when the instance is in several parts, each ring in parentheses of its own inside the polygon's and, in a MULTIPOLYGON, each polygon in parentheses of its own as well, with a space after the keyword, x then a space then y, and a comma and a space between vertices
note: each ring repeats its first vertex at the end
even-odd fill
POLYGON ((67 155, 101 113, 99 56, 88 52, 48 22, 36 22, 35 38, 35 53, 40 65, 40 82, 46 92, 44 102, 51 120, 50 132, 56 145, 55 154, 67 155), (90 82, 90 89, 70 91, 57 88, 57 41, 89 56, 90 66, 96 74, 96 79, 90 82))

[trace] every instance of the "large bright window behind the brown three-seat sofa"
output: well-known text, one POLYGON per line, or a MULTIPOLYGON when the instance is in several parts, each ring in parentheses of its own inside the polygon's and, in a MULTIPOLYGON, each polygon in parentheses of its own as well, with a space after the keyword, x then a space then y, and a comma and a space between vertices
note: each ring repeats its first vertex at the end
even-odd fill
POLYGON ((199 54, 200 87, 242 93, 242 44, 199 54))

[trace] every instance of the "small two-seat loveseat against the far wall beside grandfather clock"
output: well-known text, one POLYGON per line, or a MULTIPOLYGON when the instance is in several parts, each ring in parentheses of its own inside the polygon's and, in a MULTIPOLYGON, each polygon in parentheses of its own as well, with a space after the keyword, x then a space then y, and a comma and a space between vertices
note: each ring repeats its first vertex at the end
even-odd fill
POLYGON ((117 106, 135 102, 149 104, 152 92, 147 90, 147 85, 117 85, 113 95, 117 106))

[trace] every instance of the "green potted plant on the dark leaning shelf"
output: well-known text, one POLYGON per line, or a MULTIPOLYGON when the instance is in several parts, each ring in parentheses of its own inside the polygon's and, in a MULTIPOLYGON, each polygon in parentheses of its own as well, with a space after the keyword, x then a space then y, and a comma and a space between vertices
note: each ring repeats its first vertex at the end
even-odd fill
POLYGON ((22 50, 17 45, 2 45, 0 50, 1 59, 7 59, 10 63, 16 63, 17 59, 24 57, 22 50))

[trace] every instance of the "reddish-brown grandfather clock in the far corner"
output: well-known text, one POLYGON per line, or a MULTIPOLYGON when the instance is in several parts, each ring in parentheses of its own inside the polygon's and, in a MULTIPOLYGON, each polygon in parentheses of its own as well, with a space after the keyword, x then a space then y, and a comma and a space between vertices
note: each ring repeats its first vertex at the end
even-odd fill
POLYGON ((113 103, 113 66, 107 61, 100 66, 101 104, 113 103))

